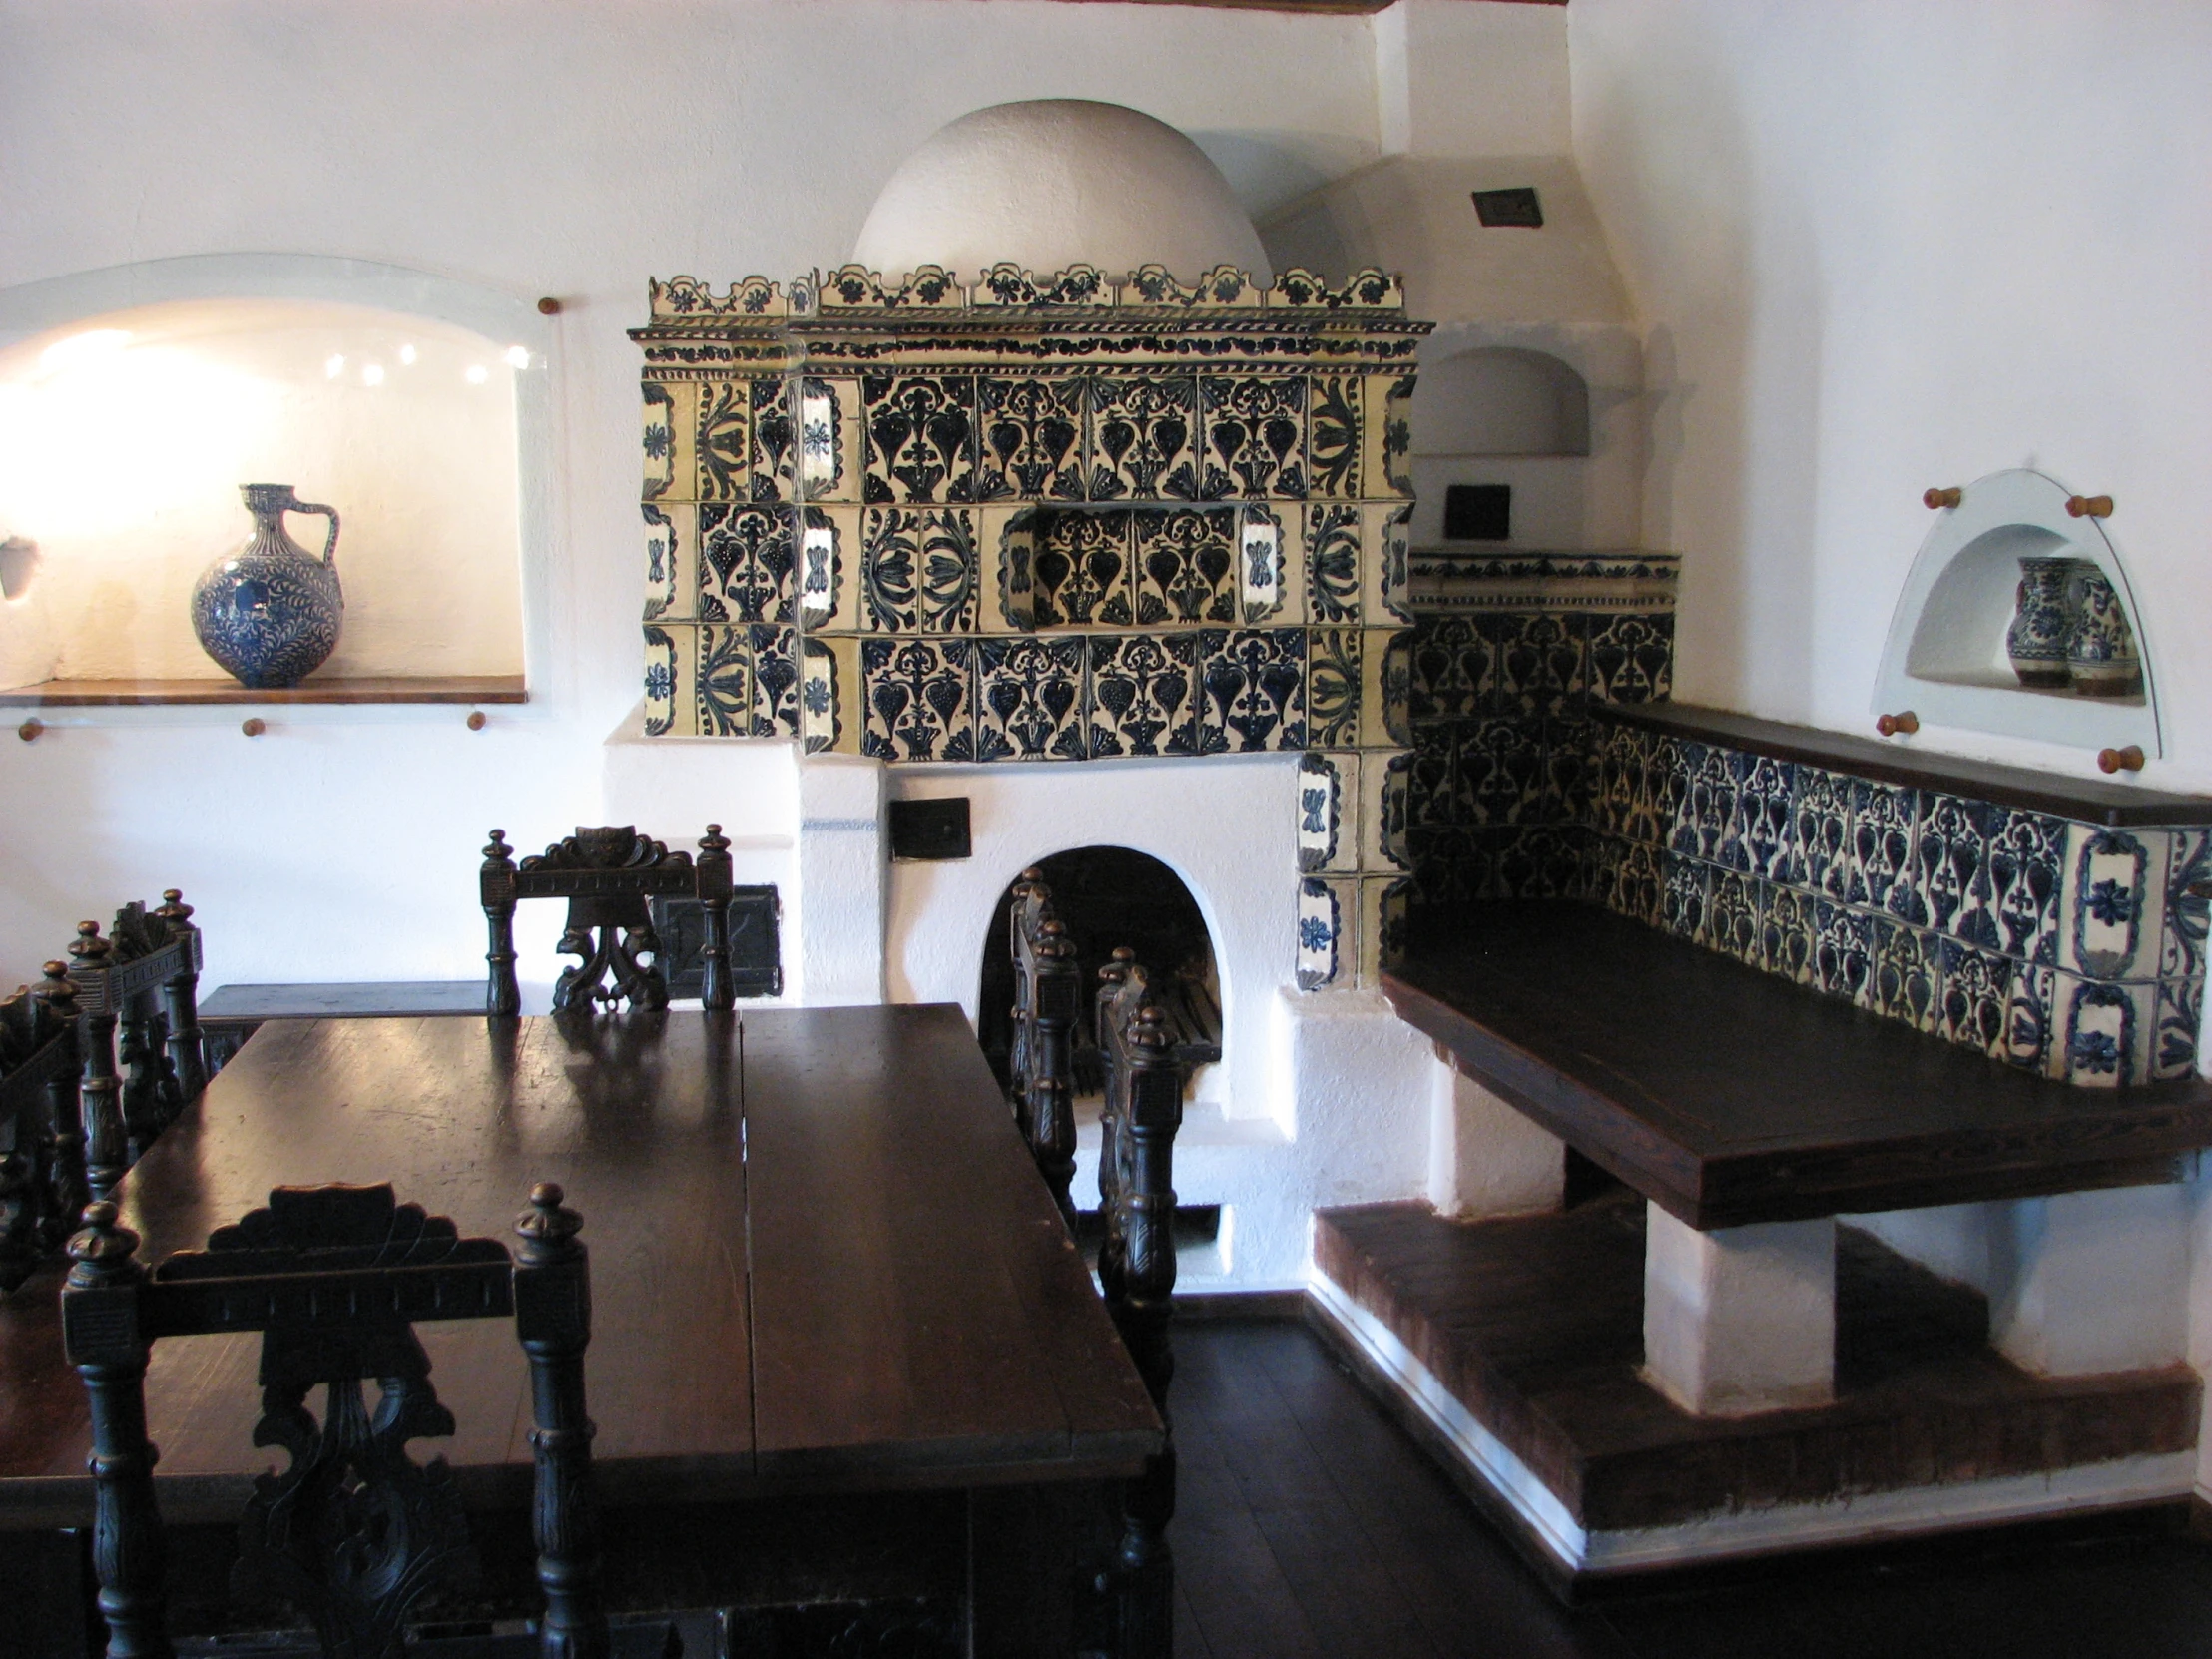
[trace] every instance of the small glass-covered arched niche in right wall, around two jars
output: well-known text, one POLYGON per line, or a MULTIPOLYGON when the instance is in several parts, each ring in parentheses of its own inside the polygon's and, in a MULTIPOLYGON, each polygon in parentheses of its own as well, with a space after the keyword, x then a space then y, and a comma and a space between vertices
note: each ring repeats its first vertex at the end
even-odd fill
POLYGON ((2081 748, 2126 748, 2163 754, 2159 690, 2148 617, 2128 582, 2119 549, 2095 518, 2073 518, 2064 484, 2015 467, 1964 487, 1958 507, 1942 509, 1905 577, 1874 712, 1913 710, 1924 723, 1971 732, 2033 737, 2081 748), (2077 697, 2031 690, 2004 655, 2022 557, 2068 557, 2095 564, 2135 630, 2143 657, 2139 697, 2077 697))

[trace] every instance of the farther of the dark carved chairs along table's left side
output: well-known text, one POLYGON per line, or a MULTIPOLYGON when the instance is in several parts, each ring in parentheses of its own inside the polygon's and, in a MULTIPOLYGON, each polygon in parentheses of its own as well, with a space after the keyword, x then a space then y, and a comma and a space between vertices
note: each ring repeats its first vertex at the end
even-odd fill
POLYGON ((100 922, 77 922, 69 980, 77 991, 86 1179, 104 1199, 208 1086, 192 907, 170 887, 159 909, 131 902, 115 911, 108 938, 100 922))

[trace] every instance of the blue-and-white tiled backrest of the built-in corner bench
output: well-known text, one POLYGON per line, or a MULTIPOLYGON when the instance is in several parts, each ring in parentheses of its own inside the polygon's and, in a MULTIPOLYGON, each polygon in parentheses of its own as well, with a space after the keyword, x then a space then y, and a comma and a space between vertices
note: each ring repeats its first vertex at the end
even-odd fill
MULTIPOLYGON (((1460 591, 1515 586, 1458 564, 1460 591)), ((1595 900, 2073 1084, 2197 1068, 2212 832, 2110 830, 1646 730, 1606 703, 1650 699, 1610 697, 1586 661, 1575 679, 1564 648, 1528 686, 1528 635, 1566 615, 1557 580, 1546 593, 1522 626, 1462 604, 1416 635, 1425 900, 1595 900), (1478 692, 1453 701, 1462 684, 1478 692)), ((1588 653, 1588 619, 1582 637, 1588 653)))

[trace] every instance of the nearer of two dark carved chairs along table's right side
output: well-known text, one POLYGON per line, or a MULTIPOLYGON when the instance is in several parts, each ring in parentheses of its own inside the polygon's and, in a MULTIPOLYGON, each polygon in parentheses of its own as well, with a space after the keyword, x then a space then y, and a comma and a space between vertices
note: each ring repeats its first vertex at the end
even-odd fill
MULTIPOLYGON (((1183 1126, 1183 1057, 1168 1009, 1146 969, 1117 949, 1099 969, 1095 1002, 1106 1106, 1099 1117, 1099 1287, 1121 1343, 1137 1363, 1159 1420, 1168 1422, 1175 1349, 1168 1318, 1175 1298, 1175 1135, 1183 1126)), ((1170 1425, 1172 1436, 1172 1425, 1170 1425)), ((1175 1440, 1146 1464, 1121 1498, 1121 1540, 1106 1575, 1121 1659, 1168 1652, 1175 1564, 1175 1440)))

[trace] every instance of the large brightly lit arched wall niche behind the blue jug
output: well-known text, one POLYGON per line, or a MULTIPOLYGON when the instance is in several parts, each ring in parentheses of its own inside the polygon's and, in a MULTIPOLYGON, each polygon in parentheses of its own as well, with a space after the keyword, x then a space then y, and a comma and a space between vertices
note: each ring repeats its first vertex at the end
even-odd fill
MULTIPOLYGON (((243 482, 343 520, 345 628, 310 686, 531 677, 549 345, 522 296, 352 259, 161 259, 0 292, 0 538, 38 546, 0 615, 0 686, 230 686, 188 595, 250 531, 243 482)), ((323 520, 290 531, 321 553, 323 520)))

